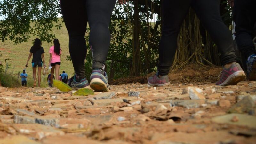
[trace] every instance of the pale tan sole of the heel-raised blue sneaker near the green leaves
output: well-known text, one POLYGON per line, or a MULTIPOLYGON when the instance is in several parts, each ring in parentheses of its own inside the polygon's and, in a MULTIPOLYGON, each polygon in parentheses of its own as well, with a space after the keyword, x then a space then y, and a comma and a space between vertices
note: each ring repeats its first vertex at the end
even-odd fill
POLYGON ((90 87, 95 92, 107 92, 107 91, 109 91, 107 85, 99 78, 93 78, 90 82, 90 87))

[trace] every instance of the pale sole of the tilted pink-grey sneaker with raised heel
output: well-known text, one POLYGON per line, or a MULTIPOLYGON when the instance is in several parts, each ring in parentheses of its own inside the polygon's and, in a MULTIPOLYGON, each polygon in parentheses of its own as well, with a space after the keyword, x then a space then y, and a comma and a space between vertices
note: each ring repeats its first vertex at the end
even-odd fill
POLYGON ((228 76, 228 78, 218 86, 226 86, 226 85, 236 85, 237 83, 243 81, 245 79, 245 73, 242 70, 234 72, 232 75, 228 76))

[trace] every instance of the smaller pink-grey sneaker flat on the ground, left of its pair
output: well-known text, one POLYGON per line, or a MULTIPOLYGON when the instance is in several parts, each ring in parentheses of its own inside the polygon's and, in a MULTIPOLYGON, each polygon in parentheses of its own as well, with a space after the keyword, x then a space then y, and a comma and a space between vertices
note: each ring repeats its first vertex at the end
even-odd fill
POLYGON ((161 78, 160 78, 160 77, 158 77, 158 73, 156 73, 155 76, 148 78, 148 85, 150 85, 150 86, 166 86, 169 84, 170 84, 170 81, 169 81, 169 77, 167 75, 161 76, 161 78))

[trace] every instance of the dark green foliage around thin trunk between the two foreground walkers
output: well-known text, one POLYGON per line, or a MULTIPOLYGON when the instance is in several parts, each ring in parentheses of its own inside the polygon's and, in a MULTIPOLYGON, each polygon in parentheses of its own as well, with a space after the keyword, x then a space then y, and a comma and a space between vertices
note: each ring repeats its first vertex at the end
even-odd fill
MULTIPOLYGON (((155 1, 156 4, 159 1, 155 1)), ((125 77, 131 74, 132 65, 140 65, 140 74, 144 75, 154 70, 158 60, 158 45, 160 41, 160 30, 158 29, 160 19, 152 23, 154 17, 151 10, 145 9, 145 5, 139 5, 139 53, 140 62, 133 63, 133 32, 134 32, 134 15, 133 2, 130 5, 120 6, 116 4, 111 17, 109 26, 111 33, 110 49, 107 57, 108 74, 114 70, 115 78, 125 77), (111 68, 112 63, 112 68, 111 68), (147 63, 149 69, 147 68, 147 63)), ((111 77, 110 77, 111 78, 111 77)))

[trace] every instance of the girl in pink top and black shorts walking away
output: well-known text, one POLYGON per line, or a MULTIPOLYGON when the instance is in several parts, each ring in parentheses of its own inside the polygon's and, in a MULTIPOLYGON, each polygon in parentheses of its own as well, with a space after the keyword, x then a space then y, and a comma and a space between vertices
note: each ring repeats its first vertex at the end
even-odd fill
POLYGON ((54 39, 53 44, 54 44, 54 46, 52 46, 49 50, 49 53, 50 53, 49 66, 52 67, 51 68, 51 83, 49 84, 50 87, 52 87, 52 83, 53 83, 54 69, 55 69, 55 77, 58 77, 58 75, 59 75, 60 56, 61 56, 59 40, 54 39))

